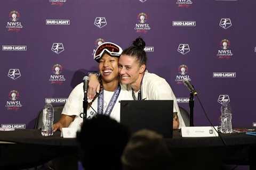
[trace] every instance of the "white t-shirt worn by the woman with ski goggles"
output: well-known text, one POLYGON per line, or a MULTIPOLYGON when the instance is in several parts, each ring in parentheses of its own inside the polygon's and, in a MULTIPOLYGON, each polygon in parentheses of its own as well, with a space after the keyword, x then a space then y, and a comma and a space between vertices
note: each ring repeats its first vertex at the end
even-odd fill
MULTIPOLYGON (((103 113, 105 112, 108 103, 114 94, 114 91, 104 90, 104 99, 103 99, 103 113)), ((83 112, 83 83, 78 84, 70 93, 68 100, 63 108, 62 114, 65 115, 75 115, 75 120, 71 122, 69 128, 75 128, 80 130, 83 118, 80 117, 80 114, 83 112)), ((117 98, 117 101, 113 107, 113 110, 110 114, 110 117, 115 119, 117 122, 120 122, 120 100, 133 100, 130 90, 127 90, 127 86, 121 85, 121 91, 117 98)), ((98 109, 98 97, 93 101, 93 109, 97 112, 98 109)), ((87 118, 92 118, 95 115, 95 112, 89 106, 87 108, 87 118)))

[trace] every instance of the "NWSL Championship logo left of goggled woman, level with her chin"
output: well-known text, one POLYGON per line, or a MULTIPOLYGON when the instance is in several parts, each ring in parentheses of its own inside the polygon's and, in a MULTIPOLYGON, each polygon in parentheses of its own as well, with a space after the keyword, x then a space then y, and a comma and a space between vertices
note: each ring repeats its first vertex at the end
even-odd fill
POLYGON ((50 75, 49 81, 51 84, 63 84, 66 81, 64 75, 62 74, 63 67, 60 64, 55 64, 52 67, 52 74, 50 75))

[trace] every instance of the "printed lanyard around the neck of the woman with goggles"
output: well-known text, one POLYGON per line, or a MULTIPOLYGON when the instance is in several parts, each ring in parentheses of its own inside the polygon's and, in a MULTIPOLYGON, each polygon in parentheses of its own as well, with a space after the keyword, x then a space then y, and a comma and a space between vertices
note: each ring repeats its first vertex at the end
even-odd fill
POLYGON ((97 111, 98 114, 104 114, 104 115, 108 115, 108 116, 111 114, 111 112, 112 112, 112 110, 113 110, 113 108, 115 106, 115 103, 117 101, 117 98, 118 98, 118 96, 120 94, 120 91, 121 91, 121 86, 120 86, 120 84, 118 84, 117 89, 115 90, 113 96, 111 97, 111 99, 109 101, 109 104, 108 104, 108 106, 106 108, 105 113, 103 113, 104 92, 103 92, 103 90, 100 91, 100 94, 98 96, 98 111, 97 111))

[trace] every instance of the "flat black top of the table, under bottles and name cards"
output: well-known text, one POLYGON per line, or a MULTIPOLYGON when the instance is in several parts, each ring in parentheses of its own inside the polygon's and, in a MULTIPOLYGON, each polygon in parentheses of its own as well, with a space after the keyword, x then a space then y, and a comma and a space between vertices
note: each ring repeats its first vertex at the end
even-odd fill
MULTIPOLYGON (((0 131, 0 141, 15 143, 33 143, 51 146, 77 146, 75 138, 62 138, 61 132, 54 132, 51 137, 43 137, 37 129, 0 131)), ((227 146, 256 145, 256 137, 245 133, 221 134, 227 146)), ((173 131, 173 138, 166 138, 169 147, 214 147, 224 146, 219 137, 182 138, 179 130, 173 131)))

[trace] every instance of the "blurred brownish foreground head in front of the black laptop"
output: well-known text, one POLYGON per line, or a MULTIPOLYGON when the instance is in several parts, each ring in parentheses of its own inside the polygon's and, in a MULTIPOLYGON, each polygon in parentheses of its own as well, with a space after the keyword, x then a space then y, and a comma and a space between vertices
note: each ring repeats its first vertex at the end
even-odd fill
POLYGON ((122 155, 123 170, 171 169, 171 162, 162 135, 150 130, 134 133, 122 155))

